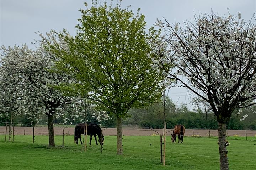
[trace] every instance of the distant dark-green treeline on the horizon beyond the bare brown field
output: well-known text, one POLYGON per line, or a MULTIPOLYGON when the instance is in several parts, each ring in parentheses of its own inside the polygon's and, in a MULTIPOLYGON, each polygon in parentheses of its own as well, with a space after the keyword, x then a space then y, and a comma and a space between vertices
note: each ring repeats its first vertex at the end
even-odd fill
MULTIPOLYGON (((206 105, 189 110, 185 104, 179 107, 173 103, 169 98, 166 103, 165 121, 168 129, 172 129, 176 124, 183 124, 187 129, 218 129, 218 122, 212 111, 206 105), (204 106, 204 107, 202 107, 204 106)), ((164 113, 162 102, 155 103, 153 106, 140 109, 130 109, 129 117, 123 120, 122 125, 139 125, 140 128, 163 128, 164 127, 164 113)), ((256 106, 244 108, 240 112, 235 110, 227 129, 233 130, 256 130, 256 106), (240 114, 237 114, 237 113, 240 114), (243 115, 247 114, 245 120, 240 121, 243 115)), ((68 115, 67 115, 68 117, 68 115)), ((116 127, 116 120, 113 117, 106 121, 97 122, 93 118, 88 118, 90 122, 101 124, 103 127, 116 127)), ((6 121, 10 121, 8 117, 0 117, 0 126, 5 126, 6 121), (2 123, 1 123, 2 122, 2 123)), ((24 122, 21 126, 33 126, 30 124, 32 120, 25 118, 25 116, 15 117, 16 122, 24 122)), ((47 117, 41 120, 43 123, 47 122, 47 117)), ((54 123, 62 122, 62 119, 55 119, 54 123)), ((36 123, 33 121, 33 123, 36 123)), ((73 122, 73 124, 80 123, 73 122)), ((69 121, 67 122, 69 124, 69 121)))

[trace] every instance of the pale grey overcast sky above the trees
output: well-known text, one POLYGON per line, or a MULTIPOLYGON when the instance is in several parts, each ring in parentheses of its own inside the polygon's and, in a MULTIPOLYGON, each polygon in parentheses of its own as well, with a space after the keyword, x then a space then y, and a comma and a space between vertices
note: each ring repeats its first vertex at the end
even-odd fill
MULTIPOLYGON (((91 0, 0 0, 0 45, 14 46, 39 39, 34 32, 45 34, 50 29, 60 31, 67 29, 75 35, 77 19, 81 17, 79 9, 85 9, 84 2, 91 6, 91 0)), ((110 0, 108 0, 110 2, 110 0)), ((115 4, 117 0, 113 0, 115 4)), ((169 23, 193 19, 194 13, 218 13, 233 15, 241 13, 241 18, 250 20, 256 11, 256 0, 123 0, 122 7, 131 5, 130 9, 146 16, 148 28, 153 26, 156 18, 163 17, 169 23)), ((172 88, 169 96, 174 102, 185 103, 192 109, 191 95, 187 90, 172 88), (179 99, 179 100, 178 100, 179 99)))

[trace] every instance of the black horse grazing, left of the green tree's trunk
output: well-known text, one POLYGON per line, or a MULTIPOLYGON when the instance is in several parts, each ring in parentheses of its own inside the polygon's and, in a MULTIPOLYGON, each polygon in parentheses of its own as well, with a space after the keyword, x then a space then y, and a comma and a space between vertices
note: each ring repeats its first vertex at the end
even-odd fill
MULTIPOLYGON (((75 126, 75 134, 74 134, 74 142, 76 144, 78 144, 78 138, 80 139, 80 142, 82 144, 82 140, 81 140, 81 134, 85 134, 85 124, 84 123, 79 123, 75 126)), ((101 143, 101 128, 100 126, 90 123, 87 124, 87 135, 91 135, 90 137, 90 145, 91 145, 91 140, 92 140, 92 135, 94 135, 95 141, 96 141, 96 145, 98 145, 97 142, 97 138, 96 138, 96 134, 98 135, 99 138, 99 142, 101 145, 104 144, 104 136, 102 136, 102 143, 101 143)))

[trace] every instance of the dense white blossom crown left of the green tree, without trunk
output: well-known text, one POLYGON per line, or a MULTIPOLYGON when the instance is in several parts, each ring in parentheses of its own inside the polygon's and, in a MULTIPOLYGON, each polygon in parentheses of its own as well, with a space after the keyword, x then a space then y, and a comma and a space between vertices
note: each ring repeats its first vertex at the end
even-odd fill
MULTIPOLYGON (((53 33, 48 35, 53 36, 53 33)), ((63 123, 77 121, 76 118, 83 115, 83 99, 65 96, 53 87, 75 80, 51 70, 58 58, 44 50, 46 41, 40 43, 36 50, 28 49, 26 45, 1 47, 0 113, 22 114, 32 120, 40 119, 43 114, 56 118, 68 114, 71 120, 66 118, 63 123)), ((63 49, 66 47, 64 43, 59 45, 63 49)), ((108 119, 105 113, 95 111, 94 114, 97 120, 102 120, 102 116, 104 120, 108 119)))

